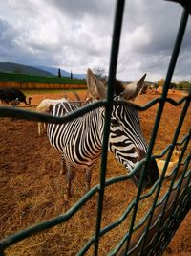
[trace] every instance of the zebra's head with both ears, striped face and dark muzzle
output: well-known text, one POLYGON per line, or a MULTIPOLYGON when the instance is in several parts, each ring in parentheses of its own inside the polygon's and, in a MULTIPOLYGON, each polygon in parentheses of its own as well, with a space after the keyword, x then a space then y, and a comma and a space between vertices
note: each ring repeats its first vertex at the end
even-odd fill
MULTIPOLYGON (((130 101, 134 100, 142 88, 146 74, 138 81, 129 85, 115 82, 114 100, 130 101)), ((87 86, 94 99, 104 99, 106 97, 106 86, 99 81, 91 69, 87 72, 87 86)), ((145 158, 148 144, 142 135, 138 119, 138 111, 134 105, 113 105, 111 115, 111 127, 109 137, 109 151, 112 151, 129 172, 145 158)), ((141 172, 144 166, 138 169, 133 175, 133 181, 138 186, 141 172)), ((151 187, 159 177, 159 170, 155 159, 151 159, 146 170, 143 187, 151 187)))

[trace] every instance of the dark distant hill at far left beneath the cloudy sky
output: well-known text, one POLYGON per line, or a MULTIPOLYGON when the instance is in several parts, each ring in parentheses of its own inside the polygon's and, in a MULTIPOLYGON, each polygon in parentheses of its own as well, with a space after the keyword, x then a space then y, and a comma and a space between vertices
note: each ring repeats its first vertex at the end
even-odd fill
POLYGON ((22 65, 18 63, 12 63, 12 62, 0 62, 0 72, 26 74, 26 75, 42 76, 42 77, 53 77, 53 74, 51 72, 48 72, 36 67, 22 65))

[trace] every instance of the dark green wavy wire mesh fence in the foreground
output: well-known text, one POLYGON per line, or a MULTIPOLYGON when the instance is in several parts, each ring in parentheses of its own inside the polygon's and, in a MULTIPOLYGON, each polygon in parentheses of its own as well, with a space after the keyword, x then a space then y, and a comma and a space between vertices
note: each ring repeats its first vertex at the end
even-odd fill
MULTIPOLYGON (((96 102, 91 105, 86 105, 80 109, 75 110, 73 113, 60 118, 53 117, 45 114, 34 113, 31 111, 23 109, 12 109, 10 107, 0 107, 0 116, 1 117, 17 117, 19 119, 26 119, 32 121, 42 121, 42 122, 52 122, 52 123, 65 123, 70 120, 73 120, 79 115, 83 115, 88 111, 99 107, 105 106, 106 109, 106 118, 105 118, 105 127, 104 127, 104 139, 103 139, 103 151, 101 156, 101 175, 100 183, 93 187, 88 193, 84 195, 83 198, 79 199, 74 206, 69 209, 66 213, 59 215, 49 221, 44 221, 38 224, 35 224, 26 230, 22 230, 16 234, 13 234, 7 238, 4 238, 0 241, 0 255, 5 255, 5 249, 15 244, 21 240, 24 240, 37 232, 42 232, 47 230, 59 223, 68 221, 71 219, 74 214, 86 203, 90 198, 92 198, 96 193, 98 193, 98 206, 96 213, 96 232, 95 235, 90 238, 87 244, 81 248, 77 255, 84 255, 89 248, 95 246, 95 255, 98 255, 99 250, 99 240, 100 238, 110 232, 113 228, 119 225, 121 222, 125 221, 130 212, 132 214, 132 220, 129 228, 127 227, 127 232, 122 238, 121 241, 118 241, 118 244, 110 252, 110 255, 161 255, 164 251, 167 244, 169 244, 174 233, 178 229, 180 222, 183 220, 185 215, 190 209, 191 205, 191 169, 190 169, 190 159, 191 153, 185 155, 185 151, 188 147, 191 138, 191 128, 188 130, 187 134, 183 137, 181 141, 178 142, 180 129, 183 123, 183 120, 187 114, 188 107, 191 101, 191 93, 182 99, 179 102, 174 101, 173 99, 167 98, 168 88, 170 81, 173 76, 173 72, 176 66, 177 58, 180 52, 180 46, 183 39, 184 31, 186 28, 187 20, 190 12, 189 1, 184 1, 184 7, 182 12, 182 17, 180 20, 180 28, 178 31, 177 39, 173 49, 172 57, 169 63, 167 70, 166 79, 164 82, 163 90, 161 97, 149 102, 146 105, 139 106, 135 105, 138 111, 145 111, 153 105, 159 104, 157 118, 155 120, 155 125, 152 131, 152 138, 149 144, 149 150, 145 159, 143 159, 139 165, 134 169, 130 175, 122 175, 106 180, 106 166, 107 166, 107 145, 109 138, 109 128, 110 128, 110 115, 112 111, 112 105, 118 104, 118 102, 113 101, 113 91, 114 91, 114 81, 116 77, 117 70, 117 55, 119 48, 119 39, 120 31, 122 24, 122 16, 124 10, 124 0, 117 1, 116 7, 116 16, 114 22, 114 32, 113 32, 113 41, 112 41, 112 50, 111 50, 111 59, 110 59, 110 69, 109 69, 109 81, 108 81, 108 91, 107 99, 96 102), (186 4, 187 3, 187 4, 186 4), (166 148, 159 155, 152 155, 152 151, 155 145, 157 133, 159 130, 159 123, 162 115, 164 105, 169 103, 171 105, 182 105, 182 111, 180 114, 180 121, 176 128, 172 143, 167 145, 166 148), (176 145, 181 145, 182 151, 180 155, 180 160, 173 170, 171 176, 171 182, 169 185, 168 191, 162 198, 159 198, 160 189, 163 181, 165 180, 165 172, 170 161, 172 152, 175 149, 176 145), (150 189, 147 194, 142 195, 142 185, 143 179, 148 167, 148 163, 151 157, 160 158, 167 153, 167 160, 163 168, 162 175, 159 176, 156 184, 150 189), (180 168, 180 163, 183 161, 183 173, 180 176, 178 182, 176 182, 176 177, 180 168), (144 172, 141 174, 140 183, 138 186, 137 197, 131 202, 131 204, 125 209, 121 217, 109 224, 108 226, 101 229, 101 217, 102 217, 102 205, 104 198, 104 191, 107 186, 110 186, 114 183, 121 182, 123 180, 130 179, 138 170, 140 165, 144 165, 144 172), (153 205, 145 216, 136 224, 136 216, 138 213, 138 204, 144 198, 149 198, 155 193, 153 200, 153 205)), ((132 103, 120 102, 121 105, 134 105, 132 103)), ((61 252, 60 252, 61 253, 61 252)))

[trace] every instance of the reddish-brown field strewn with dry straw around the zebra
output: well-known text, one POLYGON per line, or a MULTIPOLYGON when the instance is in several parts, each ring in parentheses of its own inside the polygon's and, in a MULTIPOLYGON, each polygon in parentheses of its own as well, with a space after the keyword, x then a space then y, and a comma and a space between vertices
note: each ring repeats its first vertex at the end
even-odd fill
MULTIPOLYGON (((81 92, 84 99, 86 92, 81 92)), ((62 94, 32 94, 32 110, 42 99, 61 98, 62 94)), ((69 93, 70 99, 74 94, 69 93)), ((147 93, 138 96, 136 103, 144 105, 157 93, 147 93)), ((179 100, 183 93, 169 92, 169 96, 179 100)), ((24 105, 21 105, 21 107, 24 105)), ((26 107, 25 107, 26 109, 26 107)), ((175 128, 178 124, 182 105, 174 107, 166 104, 159 126, 155 153, 162 151, 166 144, 171 143, 175 128)), ((150 139, 157 105, 146 112, 140 112, 140 122, 147 140, 150 139)), ((191 128, 191 107, 180 131, 180 139, 191 128)), ((55 151, 46 134, 38 136, 35 122, 0 120, 0 239, 29 227, 34 223, 46 221, 65 213, 80 199, 85 191, 84 174, 78 172, 73 182, 73 197, 64 200, 65 177, 59 174, 60 153, 55 151)), ((188 147, 191 151, 191 145, 188 147)), ((111 154, 108 158, 107 178, 124 175, 125 170, 116 162, 111 154)), ((99 183, 99 168, 93 172, 92 186, 99 183)), ((168 187, 164 183, 162 191, 168 187)), ((103 218, 104 227, 116 221, 135 198, 137 189, 131 181, 121 182, 108 187, 105 191, 103 218)), ((97 195, 91 198, 67 223, 57 225, 46 232, 39 233, 22 242, 12 245, 6 250, 11 256, 47 256, 47 255, 76 255, 83 244, 94 234, 96 229, 97 195)), ((139 204, 138 216, 141 217, 152 203, 147 198, 139 204)), ((181 223, 165 255, 186 256, 191 253, 191 214, 181 223)), ((107 233, 100 240, 99 255, 107 255, 123 237, 130 223, 127 218, 124 223, 107 233)), ((93 248, 86 255, 93 255, 93 248)))

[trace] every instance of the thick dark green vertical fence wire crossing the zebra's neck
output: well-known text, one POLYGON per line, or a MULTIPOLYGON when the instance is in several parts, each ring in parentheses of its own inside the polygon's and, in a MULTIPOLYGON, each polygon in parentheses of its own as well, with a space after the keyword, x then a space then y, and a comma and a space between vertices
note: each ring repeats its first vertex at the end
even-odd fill
POLYGON ((107 151, 108 151, 108 140, 109 140, 109 130, 110 130, 110 117, 113 107, 113 94, 114 94, 114 82, 116 78, 117 70, 117 57, 120 41, 120 32, 122 26, 122 17, 124 10, 124 0, 117 1, 116 15, 114 22, 114 32, 112 40, 111 49, 111 59, 109 68, 109 78, 108 78, 108 89, 107 89, 107 105, 105 109, 105 126, 104 126, 104 136, 103 136, 103 150, 101 154, 101 174, 100 174, 100 192, 98 198, 97 207, 97 219, 96 219, 96 243, 95 243, 95 255, 98 255, 98 244, 99 244, 99 233, 101 225, 102 216, 102 205, 105 190, 105 176, 106 176, 106 166, 107 166, 107 151))

